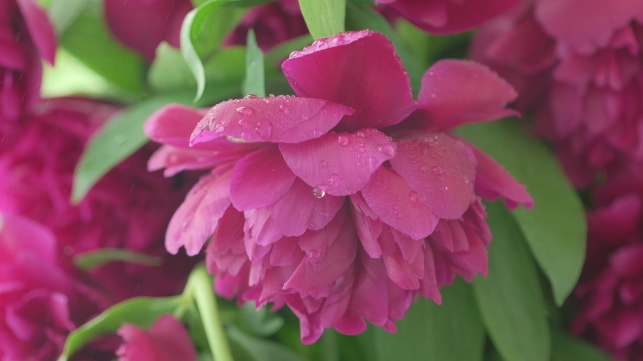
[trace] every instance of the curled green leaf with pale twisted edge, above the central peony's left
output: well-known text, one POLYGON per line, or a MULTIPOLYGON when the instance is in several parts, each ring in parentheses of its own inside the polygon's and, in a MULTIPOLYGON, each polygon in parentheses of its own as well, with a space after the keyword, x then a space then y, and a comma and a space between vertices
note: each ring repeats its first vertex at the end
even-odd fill
POLYGON ((219 48, 225 37, 239 21, 243 10, 229 0, 208 0, 190 11, 183 19, 181 26, 181 53, 197 82, 195 100, 203 96, 207 64, 219 48))

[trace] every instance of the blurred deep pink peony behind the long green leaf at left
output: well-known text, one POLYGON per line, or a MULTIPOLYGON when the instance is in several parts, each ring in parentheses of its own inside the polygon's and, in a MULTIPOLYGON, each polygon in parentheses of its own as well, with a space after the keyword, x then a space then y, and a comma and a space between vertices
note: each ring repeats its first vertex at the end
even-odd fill
POLYGON ((25 119, 15 146, 0 155, 0 211, 49 227, 69 256, 116 247, 163 257, 162 267, 111 263, 94 270, 114 301, 180 293, 195 260, 168 255, 163 233, 194 182, 148 173, 145 163, 153 149, 146 147, 73 206, 69 198, 80 154, 91 134, 118 109, 72 98, 48 100, 40 107, 39 115, 25 119))

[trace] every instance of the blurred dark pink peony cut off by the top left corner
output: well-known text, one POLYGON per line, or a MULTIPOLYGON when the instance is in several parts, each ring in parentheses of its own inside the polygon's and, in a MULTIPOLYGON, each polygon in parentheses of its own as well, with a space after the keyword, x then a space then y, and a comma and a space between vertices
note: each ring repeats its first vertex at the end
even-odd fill
POLYGON ((0 151, 12 146, 17 120, 40 98, 41 58, 53 64, 56 39, 36 0, 0 3, 0 151))

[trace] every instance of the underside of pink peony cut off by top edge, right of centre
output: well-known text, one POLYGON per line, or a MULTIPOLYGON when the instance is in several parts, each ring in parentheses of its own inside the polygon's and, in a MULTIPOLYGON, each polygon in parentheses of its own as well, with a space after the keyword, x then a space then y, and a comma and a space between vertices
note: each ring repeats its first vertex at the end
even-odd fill
POLYGON ((482 25, 519 0, 376 0, 390 4, 418 28, 433 34, 461 33, 482 25))

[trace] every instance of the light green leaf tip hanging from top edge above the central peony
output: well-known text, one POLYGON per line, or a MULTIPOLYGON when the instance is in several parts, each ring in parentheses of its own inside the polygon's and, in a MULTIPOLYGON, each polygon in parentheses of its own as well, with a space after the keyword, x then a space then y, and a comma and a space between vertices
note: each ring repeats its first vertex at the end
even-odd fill
POLYGON ((299 7, 314 39, 345 31, 346 0, 299 0, 299 7))

